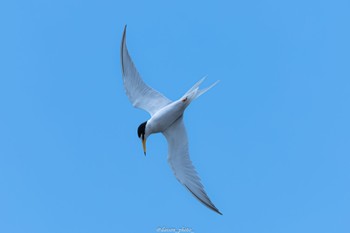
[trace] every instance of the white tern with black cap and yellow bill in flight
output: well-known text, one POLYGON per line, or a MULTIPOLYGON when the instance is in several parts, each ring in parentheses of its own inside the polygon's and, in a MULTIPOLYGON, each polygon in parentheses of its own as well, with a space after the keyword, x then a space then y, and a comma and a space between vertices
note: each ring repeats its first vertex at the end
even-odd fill
POLYGON ((205 79, 202 78, 179 100, 171 101, 143 82, 126 48, 125 37, 126 26, 124 27, 120 48, 124 88, 132 105, 147 111, 151 115, 151 118, 143 122, 137 130, 138 137, 142 141, 144 154, 146 155, 148 136, 154 133, 163 133, 168 142, 168 162, 178 181, 200 202, 222 215, 210 201, 192 165, 188 152, 187 133, 183 122, 183 113, 188 105, 217 82, 200 90, 199 85, 205 79))

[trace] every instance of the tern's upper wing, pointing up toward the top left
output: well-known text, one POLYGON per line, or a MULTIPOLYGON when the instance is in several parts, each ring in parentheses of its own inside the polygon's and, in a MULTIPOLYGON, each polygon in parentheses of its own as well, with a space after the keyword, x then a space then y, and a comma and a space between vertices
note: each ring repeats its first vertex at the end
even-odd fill
POLYGON ((126 47, 126 26, 123 32, 120 57, 124 88, 134 107, 141 108, 153 115, 159 109, 171 103, 168 98, 149 87, 141 79, 126 47))

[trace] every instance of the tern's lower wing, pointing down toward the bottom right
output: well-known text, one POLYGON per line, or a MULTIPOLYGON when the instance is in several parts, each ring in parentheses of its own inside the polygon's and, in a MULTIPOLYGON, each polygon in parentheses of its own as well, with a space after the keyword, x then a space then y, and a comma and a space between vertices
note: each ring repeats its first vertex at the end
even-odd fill
POLYGON ((174 175, 200 202, 220 213, 206 194, 201 180, 192 165, 188 152, 188 140, 183 116, 163 132, 168 141, 168 162, 174 175))

